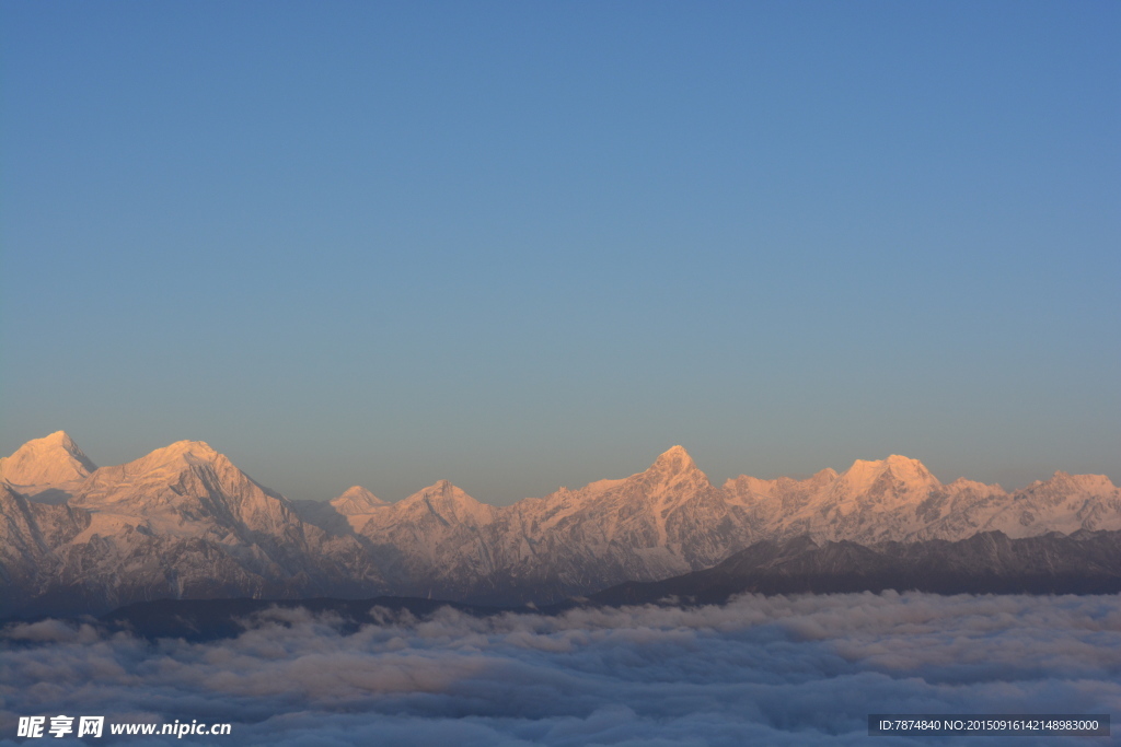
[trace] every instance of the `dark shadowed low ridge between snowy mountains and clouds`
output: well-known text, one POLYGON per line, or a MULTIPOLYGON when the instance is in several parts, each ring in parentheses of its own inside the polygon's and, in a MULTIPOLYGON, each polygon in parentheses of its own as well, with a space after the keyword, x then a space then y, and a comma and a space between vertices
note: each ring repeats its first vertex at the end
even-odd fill
POLYGON ((483 607, 433 599, 160 599, 103 615, 109 632, 148 638, 212 641, 235 637, 259 617, 284 623, 297 608, 330 613, 343 633, 408 611, 432 616, 450 606, 473 616, 504 611, 560 614, 574 607, 723 604, 739 594, 843 594, 887 589, 934 594, 1115 594, 1121 591, 1121 532, 1081 531, 1012 540, 984 532, 967 540, 889 542, 865 548, 808 536, 767 540, 715 568, 661 581, 629 581, 540 608, 483 607))

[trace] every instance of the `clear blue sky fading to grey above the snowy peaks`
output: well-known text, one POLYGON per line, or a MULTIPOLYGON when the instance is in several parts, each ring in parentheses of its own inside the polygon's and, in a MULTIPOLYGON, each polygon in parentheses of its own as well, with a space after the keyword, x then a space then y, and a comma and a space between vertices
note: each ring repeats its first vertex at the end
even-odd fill
POLYGON ((1117 2, 0 2, 0 452, 1121 482, 1117 2))

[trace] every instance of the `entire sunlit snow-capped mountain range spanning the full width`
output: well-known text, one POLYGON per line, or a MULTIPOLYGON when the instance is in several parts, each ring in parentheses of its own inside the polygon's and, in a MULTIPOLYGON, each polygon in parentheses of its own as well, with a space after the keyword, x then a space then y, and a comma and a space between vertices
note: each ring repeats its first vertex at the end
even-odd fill
POLYGON ((675 446, 645 471, 509 506, 441 480, 289 501, 202 441, 98 468, 64 432, 0 459, 0 614, 161 597, 392 594, 550 603, 711 568, 763 540, 861 544, 1121 530, 1121 491, 1055 473, 1007 493, 890 456, 716 487, 675 446))

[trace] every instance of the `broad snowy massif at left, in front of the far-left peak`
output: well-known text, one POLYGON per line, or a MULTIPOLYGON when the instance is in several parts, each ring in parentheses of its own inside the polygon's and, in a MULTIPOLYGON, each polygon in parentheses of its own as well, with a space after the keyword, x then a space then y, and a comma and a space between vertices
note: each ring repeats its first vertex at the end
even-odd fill
POLYGON ((202 441, 95 469, 64 505, 35 504, 4 487, 0 590, 9 609, 353 595, 380 583, 355 538, 303 522, 286 498, 202 441))

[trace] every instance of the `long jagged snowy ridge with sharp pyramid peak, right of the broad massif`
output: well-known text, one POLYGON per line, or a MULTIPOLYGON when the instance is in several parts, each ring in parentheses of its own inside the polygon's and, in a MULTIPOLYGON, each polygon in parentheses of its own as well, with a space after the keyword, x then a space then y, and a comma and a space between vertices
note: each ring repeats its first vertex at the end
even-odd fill
POLYGON ((800 482, 741 477, 721 489, 674 447, 628 478, 527 498, 473 523, 418 512, 421 494, 374 514, 360 534, 398 560, 405 572, 391 582, 400 594, 491 604, 549 601, 612 578, 667 578, 800 534, 878 543, 1121 529, 1121 492, 1100 476, 1057 473, 1008 494, 970 480, 942 485, 899 456, 800 482))

